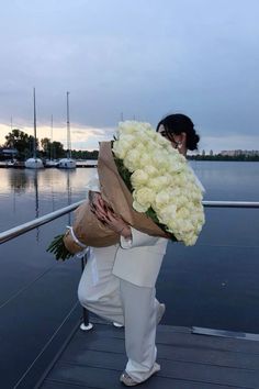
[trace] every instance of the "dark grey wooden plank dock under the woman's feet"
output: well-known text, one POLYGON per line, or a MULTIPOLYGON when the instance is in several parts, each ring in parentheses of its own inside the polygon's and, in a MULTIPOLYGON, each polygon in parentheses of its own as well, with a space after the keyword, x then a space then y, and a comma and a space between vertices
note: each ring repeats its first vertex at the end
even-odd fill
MULTIPOLYGON (((258 341, 159 325, 157 347, 161 370, 142 389, 259 388, 258 341)), ((125 363, 124 330, 99 322, 74 334, 36 388, 122 389, 119 377, 125 363)))

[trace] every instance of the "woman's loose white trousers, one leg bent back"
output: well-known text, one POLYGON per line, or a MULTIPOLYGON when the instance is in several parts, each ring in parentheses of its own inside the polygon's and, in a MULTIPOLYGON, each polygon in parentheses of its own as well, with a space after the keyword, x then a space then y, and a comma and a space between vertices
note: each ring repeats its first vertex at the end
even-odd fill
POLYGON ((125 326, 126 371, 140 382, 150 376, 156 362, 159 302, 155 288, 138 287, 112 274, 117 247, 91 249, 78 298, 89 311, 125 326))

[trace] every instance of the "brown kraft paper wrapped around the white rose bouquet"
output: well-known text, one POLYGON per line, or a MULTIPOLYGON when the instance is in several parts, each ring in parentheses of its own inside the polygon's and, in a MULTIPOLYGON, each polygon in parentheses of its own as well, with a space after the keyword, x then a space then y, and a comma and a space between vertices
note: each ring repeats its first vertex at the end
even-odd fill
MULTIPOLYGON (((101 196, 115 213, 136 230, 153 236, 168 237, 145 213, 136 212, 133 209, 133 197, 117 171, 111 142, 100 143, 98 174, 101 196)), ((102 224, 90 211, 88 200, 75 211, 72 229, 76 237, 87 246, 106 247, 120 242, 120 235, 102 224)), ((82 247, 74 241, 69 230, 65 234, 64 243, 72 254, 82 251, 82 247)))

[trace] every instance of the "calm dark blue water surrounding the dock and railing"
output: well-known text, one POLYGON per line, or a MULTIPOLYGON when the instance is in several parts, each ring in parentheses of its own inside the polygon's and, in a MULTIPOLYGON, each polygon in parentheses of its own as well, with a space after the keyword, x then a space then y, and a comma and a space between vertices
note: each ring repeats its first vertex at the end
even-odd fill
MULTIPOLYGON (((259 201, 258 163, 192 163, 206 200, 259 201)), ((0 169, 0 231, 86 197, 94 169, 0 169)), ((80 263, 56 263, 52 237, 71 223, 66 215, 0 246, 1 384, 13 388, 77 302, 80 263), (15 349, 15 352, 14 352, 15 349), (15 366, 15 368, 14 368, 15 366)), ((170 244, 157 282, 166 324, 259 333, 259 210, 206 210, 194 247, 170 244)), ((41 373, 75 325, 34 371, 41 373), (56 347, 56 348, 55 348, 56 347)), ((32 380, 33 382, 33 380, 32 380)))

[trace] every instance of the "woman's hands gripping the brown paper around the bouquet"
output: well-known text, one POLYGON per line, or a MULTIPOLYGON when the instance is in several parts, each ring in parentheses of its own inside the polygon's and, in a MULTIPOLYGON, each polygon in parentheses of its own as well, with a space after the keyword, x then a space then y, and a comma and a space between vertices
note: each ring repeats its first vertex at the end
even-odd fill
POLYGON ((99 192, 92 192, 90 196, 91 211, 95 216, 111 230, 125 238, 132 237, 131 227, 124 222, 124 220, 115 214, 110 208, 108 208, 101 198, 99 192))

